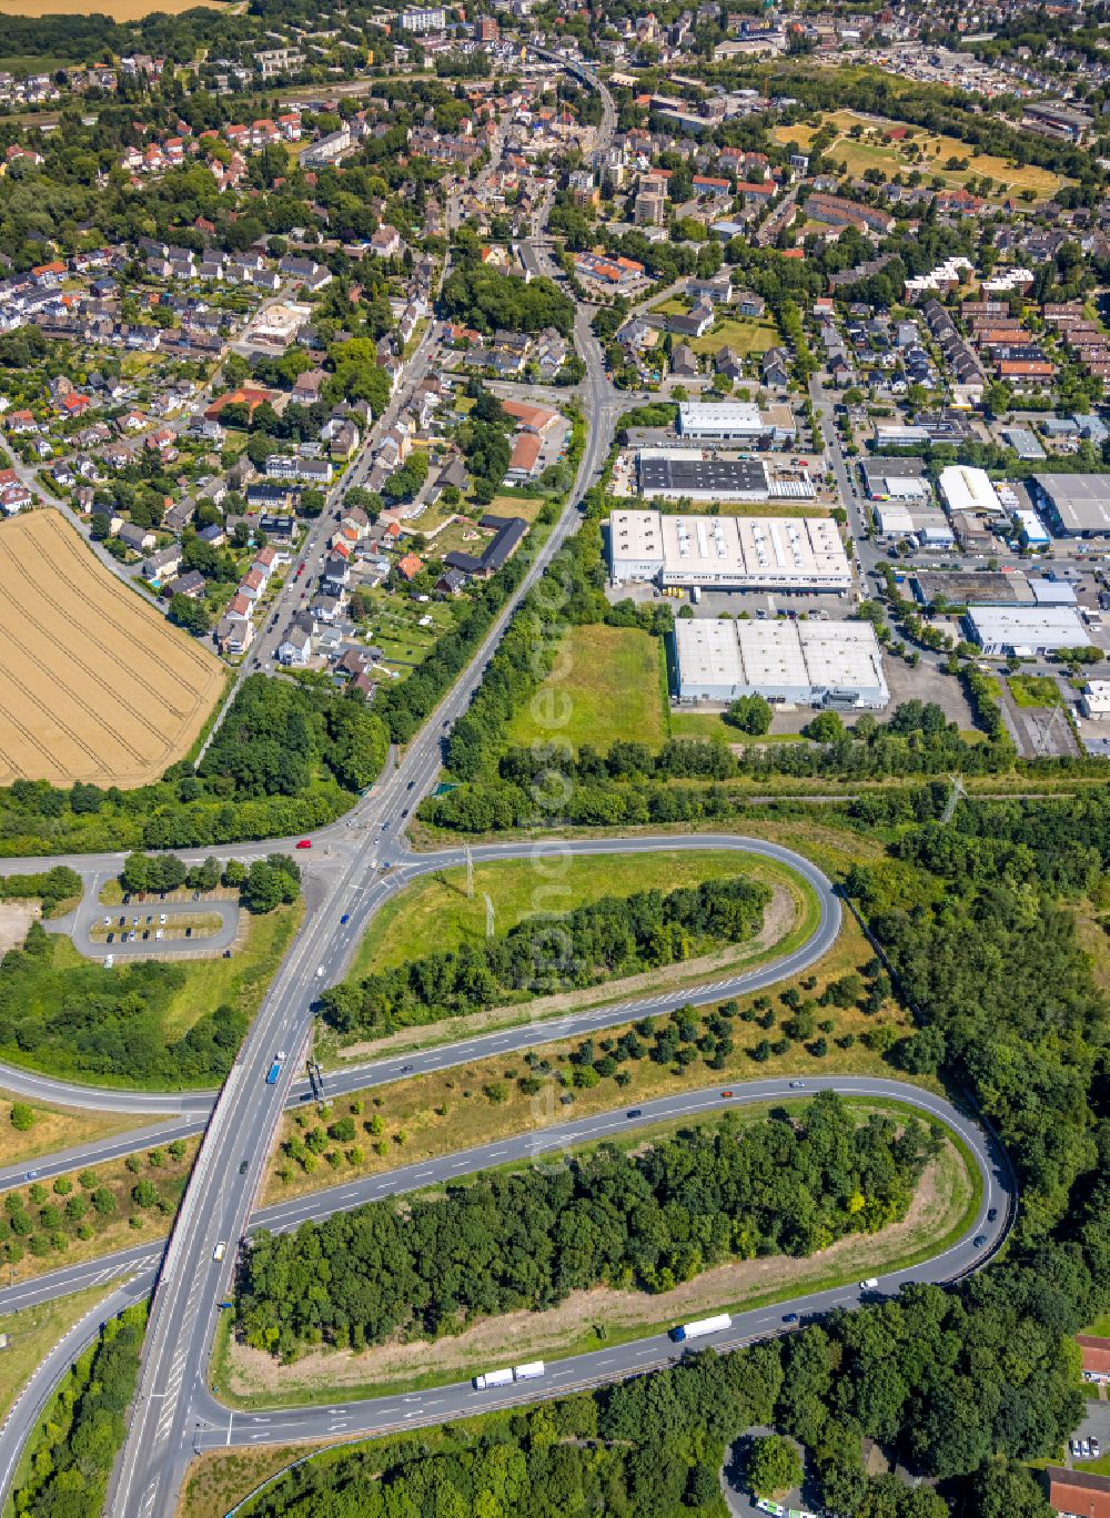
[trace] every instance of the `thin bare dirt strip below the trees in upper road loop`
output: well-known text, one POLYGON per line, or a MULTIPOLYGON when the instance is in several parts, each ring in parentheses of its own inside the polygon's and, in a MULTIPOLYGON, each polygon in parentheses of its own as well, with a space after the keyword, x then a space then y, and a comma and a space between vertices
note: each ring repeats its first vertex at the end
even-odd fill
POLYGON ((604 1002, 621 1002, 626 997, 638 996, 641 991, 662 991, 670 985, 689 981, 705 981, 708 976, 724 970, 743 967, 750 959, 767 953, 780 943, 797 921, 802 903, 787 885, 773 885, 771 899, 764 909, 764 926, 755 938, 743 944, 729 944, 714 953, 700 955, 695 959, 683 959, 680 964, 668 964, 659 970, 644 970, 641 975, 629 975, 623 981, 600 981, 592 987, 582 987, 574 991, 562 991, 557 996, 538 996, 531 1000, 510 1002, 507 1006, 490 1006, 484 1013, 474 1013, 469 1017, 443 1019, 439 1023, 419 1025, 416 1028, 401 1028, 389 1038, 371 1038, 357 1044, 346 1044, 336 1052, 337 1060, 369 1060, 389 1053, 390 1049, 410 1049, 415 1041, 425 1035, 433 1035, 449 1028, 451 1041, 468 1038, 471 1034, 487 1032, 506 1022, 542 1022, 545 1017, 557 1017, 560 1013, 582 1011, 586 1006, 600 1006, 604 1002))

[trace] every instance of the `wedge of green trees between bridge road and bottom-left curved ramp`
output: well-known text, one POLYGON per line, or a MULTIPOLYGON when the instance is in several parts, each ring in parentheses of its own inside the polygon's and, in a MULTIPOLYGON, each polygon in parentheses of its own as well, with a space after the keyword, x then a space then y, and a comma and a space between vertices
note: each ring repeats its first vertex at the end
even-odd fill
POLYGON ((29 1469, 15 1488, 17 1518, 97 1518, 128 1431, 138 1383, 146 1302, 100 1330, 62 1381, 27 1445, 29 1469))

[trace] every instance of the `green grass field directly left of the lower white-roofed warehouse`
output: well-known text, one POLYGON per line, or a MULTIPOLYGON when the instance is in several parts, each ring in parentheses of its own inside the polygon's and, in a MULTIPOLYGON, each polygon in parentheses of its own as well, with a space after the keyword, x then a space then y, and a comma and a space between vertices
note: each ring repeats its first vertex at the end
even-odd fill
POLYGON ((661 639, 650 633, 601 622, 572 627, 554 671, 509 724, 509 742, 524 747, 565 739, 575 750, 592 744, 604 751, 616 739, 629 739, 657 748, 667 738, 659 665, 661 639), (565 712, 559 727, 533 715, 550 700, 565 712))

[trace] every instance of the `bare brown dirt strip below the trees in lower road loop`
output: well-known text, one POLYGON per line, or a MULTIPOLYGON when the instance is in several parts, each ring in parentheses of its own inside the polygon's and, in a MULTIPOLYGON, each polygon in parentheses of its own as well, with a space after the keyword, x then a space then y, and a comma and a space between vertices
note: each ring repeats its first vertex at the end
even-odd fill
POLYGON ((295 1365, 279 1365, 263 1350, 232 1342, 229 1390, 238 1397, 275 1397, 314 1389, 325 1394, 330 1387, 366 1386, 405 1377, 412 1380, 430 1372, 449 1380, 453 1375, 475 1374, 475 1366, 480 1369, 486 1362, 497 1365, 501 1360, 566 1351, 568 1345, 580 1340, 595 1324, 604 1324, 610 1333, 636 1325, 647 1328, 651 1324, 682 1322, 715 1309, 735 1309, 765 1293, 782 1292, 784 1287, 802 1292, 808 1283, 828 1283, 834 1274, 853 1280, 881 1271, 884 1261, 923 1248, 955 1224, 964 1205, 964 1189, 960 1184, 938 1184, 941 1163, 946 1175, 963 1176, 963 1163, 952 1145, 946 1143, 941 1160, 926 1167, 902 1222, 891 1224, 878 1234, 850 1234, 805 1260, 785 1255, 738 1260, 705 1271, 673 1292, 657 1295, 610 1287, 572 1292, 565 1302, 548 1312, 486 1318, 437 1343, 386 1343, 360 1354, 349 1350, 316 1350, 295 1365), (954 1163, 958 1166, 955 1172, 954 1163))

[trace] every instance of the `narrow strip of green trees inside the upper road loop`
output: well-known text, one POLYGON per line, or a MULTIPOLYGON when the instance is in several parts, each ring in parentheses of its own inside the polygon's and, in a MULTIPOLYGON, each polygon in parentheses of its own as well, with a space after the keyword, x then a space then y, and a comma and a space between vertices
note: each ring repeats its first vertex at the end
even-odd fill
POLYGON ((340 1034, 377 1037, 679 964, 709 946, 744 943, 762 926, 770 899, 770 887, 743 876, 668 896, 604 896, 559 917, 536 914, 484 943, 343 981, 320 997, 320 1016, 340 1034))

